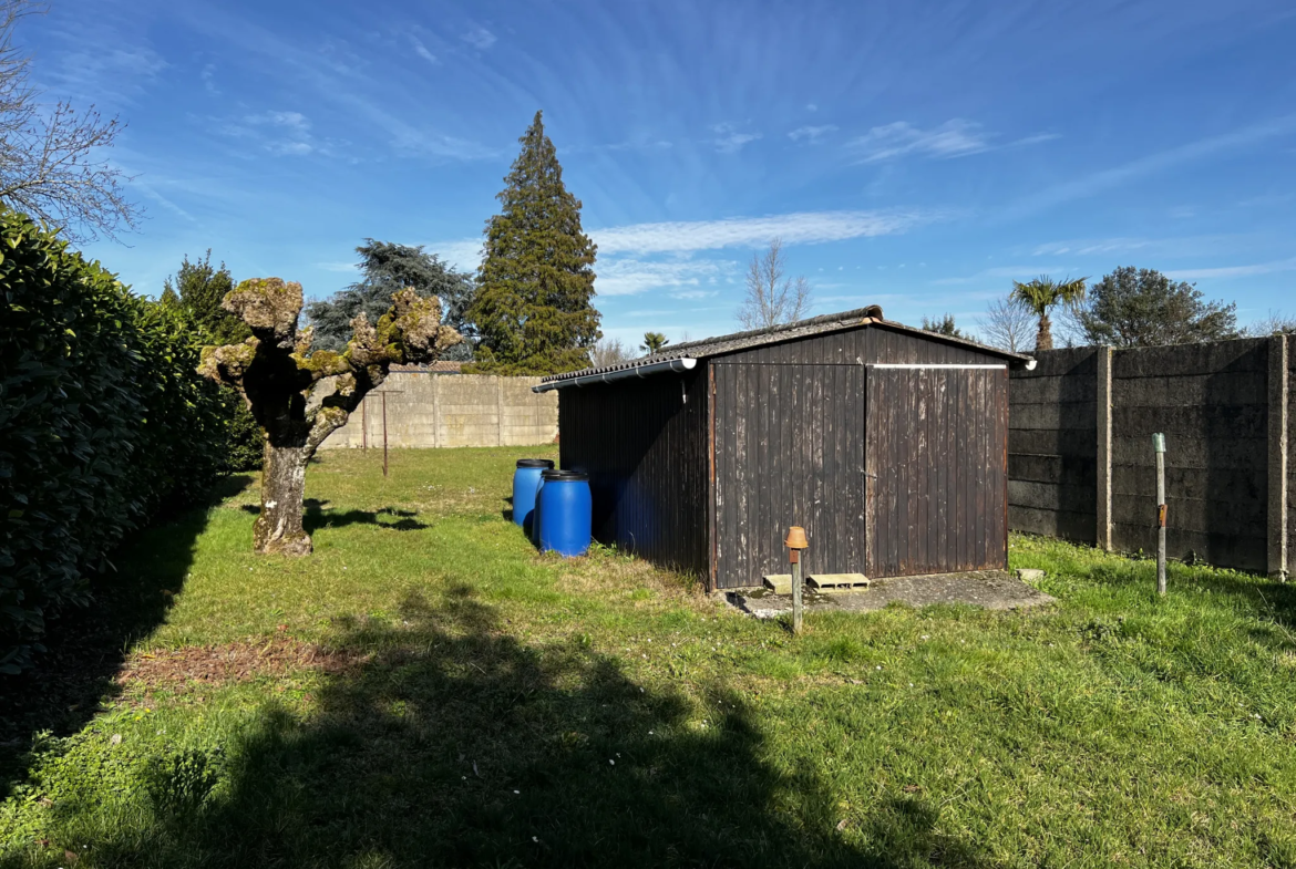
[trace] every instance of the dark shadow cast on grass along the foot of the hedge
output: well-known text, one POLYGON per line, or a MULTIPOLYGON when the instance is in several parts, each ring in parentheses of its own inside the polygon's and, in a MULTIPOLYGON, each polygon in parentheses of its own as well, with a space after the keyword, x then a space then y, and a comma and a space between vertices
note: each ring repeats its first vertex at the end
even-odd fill
POLYGON ((132 535, 113 554, 115 570, 91 576, 93 601, 51 619, 47 651, 21 676, 0 681, 0 798, 27 772, 32 737, 80 730, 118 693, 127 650, 149 635, 184 588, 207 509, 245 490, 251 477, 223 478, 207 502, 132 535))

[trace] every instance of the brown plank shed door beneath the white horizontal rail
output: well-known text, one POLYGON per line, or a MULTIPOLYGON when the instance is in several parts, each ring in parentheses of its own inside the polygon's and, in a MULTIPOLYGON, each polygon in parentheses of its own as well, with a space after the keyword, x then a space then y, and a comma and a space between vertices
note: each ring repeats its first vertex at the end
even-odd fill
POLYGON ((871 365, 870 576, 1007 567, 1008 370, 871 365))

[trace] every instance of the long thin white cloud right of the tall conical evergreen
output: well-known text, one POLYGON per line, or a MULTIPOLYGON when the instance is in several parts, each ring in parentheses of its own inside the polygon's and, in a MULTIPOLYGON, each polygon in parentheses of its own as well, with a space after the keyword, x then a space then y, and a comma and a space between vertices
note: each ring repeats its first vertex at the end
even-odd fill
POLYGON ((779 237, 789 245, 893 236, 940 219, 920 211, 804 211, 763 218, 640 223, 595 229, 600 254, 664 254, 723 247, 758 247, 779 237))

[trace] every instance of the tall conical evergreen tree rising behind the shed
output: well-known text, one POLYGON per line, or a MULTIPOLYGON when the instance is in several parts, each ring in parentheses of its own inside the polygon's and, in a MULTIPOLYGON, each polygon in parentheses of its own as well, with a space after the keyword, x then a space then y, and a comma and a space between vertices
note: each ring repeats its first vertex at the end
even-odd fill
POLYGON ((594 298, 595 245, 581 231, 581 201, 562 184, 539 111, 486 223, 486 258, 468 311, 481 335, 465 370, 556 374, 584 368, 603 337, 594 298))

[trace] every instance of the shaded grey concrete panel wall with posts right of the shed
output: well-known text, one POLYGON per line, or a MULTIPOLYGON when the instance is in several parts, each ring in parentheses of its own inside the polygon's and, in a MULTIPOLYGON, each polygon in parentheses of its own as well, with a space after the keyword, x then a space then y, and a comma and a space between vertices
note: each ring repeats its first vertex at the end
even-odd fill
POLYGON ((1013 370, 1010 387, 1010 527, 1155 552, 1152 434, 1160 431, 1168 554, 1288 570, 1296 545, 1288 495, 1296 487, 1296 395, 1280 368, 1296 364, 1283 341, 1037 354, 1036 370, 1013 370), (1109 389, 1100 359, 1107 352, 1109 389), (1274 545, 1283 537, 1286 549, 1274 545))

